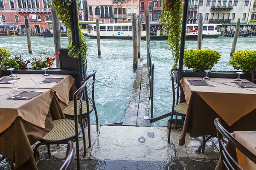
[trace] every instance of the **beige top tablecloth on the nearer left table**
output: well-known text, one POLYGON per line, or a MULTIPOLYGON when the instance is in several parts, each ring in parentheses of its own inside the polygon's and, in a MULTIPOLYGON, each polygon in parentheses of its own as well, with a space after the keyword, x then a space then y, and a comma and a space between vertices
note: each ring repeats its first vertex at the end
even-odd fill
POLYGON ((26 122, 45 128, 44 123, 54 92, 50 89, 40 91, 44 93, 30 100, 14 100, 7 99, 9 88, 0 88, 0 133, 10 127, 18 116, 26 122))

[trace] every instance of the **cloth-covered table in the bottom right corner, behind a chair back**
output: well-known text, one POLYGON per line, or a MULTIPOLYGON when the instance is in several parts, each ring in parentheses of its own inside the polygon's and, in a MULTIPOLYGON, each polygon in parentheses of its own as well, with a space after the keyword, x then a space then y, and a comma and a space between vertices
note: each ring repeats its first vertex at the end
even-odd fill
MULTIPOLYGON (((256 155, 256 131, 235 131, 232 135, 248 150, 256 155)), ((237 150, 233 144, 227 142, 226 149, 230 153, 230 156, 238 162, 239 166, 243 170, 256 170, 256 164, 237 150)), ((215 170, 221 170, 221 159, 218 161, 215 170)))

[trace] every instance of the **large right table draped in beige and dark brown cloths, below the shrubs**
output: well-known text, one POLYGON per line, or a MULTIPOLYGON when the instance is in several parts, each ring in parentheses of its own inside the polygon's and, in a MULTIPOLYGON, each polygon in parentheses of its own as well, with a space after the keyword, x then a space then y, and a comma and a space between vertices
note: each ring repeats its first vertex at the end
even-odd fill
POLYGON ((256 88, 241 88, 233 83, 234 79, 222 78, 210 78, 208 84, 215 87, 192 86, 188 79, 201 78, 180 80, 180 102, 188 103, 180 145, 185 144, 186 133, 191 137, 217 135, 214 125, 217 117, 229 132, 256 130, 256 88))

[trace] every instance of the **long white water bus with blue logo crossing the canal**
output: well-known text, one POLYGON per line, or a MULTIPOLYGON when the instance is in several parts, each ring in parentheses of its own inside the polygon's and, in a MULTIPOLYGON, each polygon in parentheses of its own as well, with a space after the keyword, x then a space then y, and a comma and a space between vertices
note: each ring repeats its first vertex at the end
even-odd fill
MULTIPOLYGON (((96 38, 96 24, 87 26, 89 29, 88 36, 96 38)), ((132 39, 132 25, 131 23, 112 23, 112 24, 99 24, 100 38, 102 39, 132 39)), ((142 24, 141 39, 146 40, 145 23, 142 24)), ((167 40, 166 31, 161 30, 159 22, 150 23, 150 39, 151 40, 167 40)), ((202 38, 205 33, 203 32, 202 38)), ((196 30, 186 32, 186 40, 197 40, 198 32, 196 30)))

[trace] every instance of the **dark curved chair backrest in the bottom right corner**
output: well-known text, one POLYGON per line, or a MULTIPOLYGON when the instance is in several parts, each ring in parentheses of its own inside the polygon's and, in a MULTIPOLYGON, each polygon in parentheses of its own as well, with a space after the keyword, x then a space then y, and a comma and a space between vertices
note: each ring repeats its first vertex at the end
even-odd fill
POLYGON ((256 155, 252 153, 250 150, 248 150, 243 144, 241 144, 234 136, 232 136, 222 125, 219 118, 216 118, 214 120, 214 125, 217 128, 217 134, 218 134, 218 142, 220 147, 220 154, 221 154, 221 167, 222 170, 225 169, 240 169, 242 168, 239 166, 239 164, 230 156, 230 154, 227 152, 227 149, 224 146, 223 136, 233 144, 236 149, 240 150, 241 153, 243 153, 247 158, 249 158, 251 161, 253 161, 256 164, 256 155))

